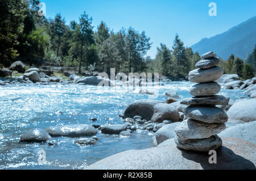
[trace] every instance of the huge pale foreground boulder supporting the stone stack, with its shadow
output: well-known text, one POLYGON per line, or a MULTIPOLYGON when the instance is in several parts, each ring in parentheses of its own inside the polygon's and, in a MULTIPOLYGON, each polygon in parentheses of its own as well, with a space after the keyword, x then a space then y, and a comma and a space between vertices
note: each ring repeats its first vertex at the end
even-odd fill
POLYGON ((255 169, 254 144, 238 138, 222 138, 223 145, 217 149, 217 163, 210 164, 208 152, 178 149, 174 139, 144 149, 128 150, 102 159, 86 169, 101 170, 212 170, 255 169))

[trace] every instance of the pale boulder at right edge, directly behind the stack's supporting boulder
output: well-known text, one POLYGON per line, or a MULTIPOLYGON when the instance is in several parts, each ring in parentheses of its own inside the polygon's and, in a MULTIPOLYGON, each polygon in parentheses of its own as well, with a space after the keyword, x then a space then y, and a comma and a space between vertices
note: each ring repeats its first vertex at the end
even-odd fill
POLYGON ((256 144, 256 121, 249 123, 238 124, 233 127, 226 128, 218 136, 220 137, 235 137, 256 144))

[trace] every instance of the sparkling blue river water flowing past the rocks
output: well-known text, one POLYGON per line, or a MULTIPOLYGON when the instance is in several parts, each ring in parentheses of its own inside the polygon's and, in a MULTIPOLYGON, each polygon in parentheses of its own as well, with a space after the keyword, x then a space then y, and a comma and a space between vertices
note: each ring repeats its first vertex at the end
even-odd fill
MULTIPOLYGON (((180 99, 189 97, 190 82, 164 82, 163 92, 176 90, 180 99)), ((231 99, 247 97, 243 90, 222 90, 231 99)), ((147 99, 148 95, 127 92, 122 87, 104 88, 76 84, 55 85, 8 85, 0 86, 0 169, 84 169, 86 166, 110 155, 131 149, 150 148, 153 132, 137 131, 131 137, 97 133, 96 145, 73 144, 77 138, 52 138, 58 144, 20 143, 20 135, 31 128, 47 128, 53 125, 123 124, 119 114, 135 100, 147 99), (46 163, 38 162, 39 150, 46 151, 46 163)))

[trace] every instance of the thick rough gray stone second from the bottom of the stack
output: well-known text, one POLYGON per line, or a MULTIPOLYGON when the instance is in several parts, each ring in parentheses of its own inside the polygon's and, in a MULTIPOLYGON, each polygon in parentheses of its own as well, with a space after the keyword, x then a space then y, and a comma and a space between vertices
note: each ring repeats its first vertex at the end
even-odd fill
POLYGON ((179 140, 209 138, 218 134, 226 128, 224 123, 203 123, 193 119, 182 121, 175 128, 179 140))

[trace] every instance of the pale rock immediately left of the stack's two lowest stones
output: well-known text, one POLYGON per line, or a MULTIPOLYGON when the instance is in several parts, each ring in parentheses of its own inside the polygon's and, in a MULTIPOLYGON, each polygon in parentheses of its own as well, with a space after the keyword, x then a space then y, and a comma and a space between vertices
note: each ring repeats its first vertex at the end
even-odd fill
POLYGON ((174 138, 176 133, 175 133, 175 128, 177 125, 179 125, 179 122, 172 123, 172 124, 167 124, 164 125, 162 128, 160 128, 156 133, 156 142, 159 145, 161 142, 166 141, 170 138, 174 138))

